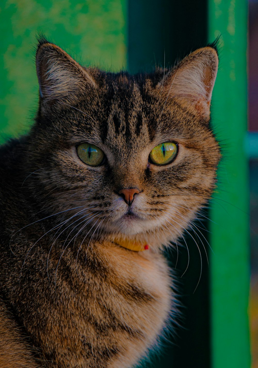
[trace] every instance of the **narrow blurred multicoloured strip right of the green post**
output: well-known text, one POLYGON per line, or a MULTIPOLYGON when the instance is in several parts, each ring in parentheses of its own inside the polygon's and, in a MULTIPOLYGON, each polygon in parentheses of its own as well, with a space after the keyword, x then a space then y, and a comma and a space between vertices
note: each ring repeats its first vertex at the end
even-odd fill
POLYGON ((248 137, 250 188, 252 367, 258 367, 258 1, 249 3, 248 137))

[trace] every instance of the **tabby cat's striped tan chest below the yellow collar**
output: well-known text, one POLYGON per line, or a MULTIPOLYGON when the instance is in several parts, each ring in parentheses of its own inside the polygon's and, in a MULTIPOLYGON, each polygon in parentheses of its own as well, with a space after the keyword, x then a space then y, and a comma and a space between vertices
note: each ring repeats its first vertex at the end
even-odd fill
POLYGON ((120 248, 100 248, 98 259, 93 253, 77 277, 68 280, 60 271, 57 289, 62 283, 63 293, 48 304, 45 354, 54 351, 66 367, 96 361, 97 367, 121 367, 116 362, 123 357, 129 367, 155 342, 168 317, 167 265, 160 255, 145 258, 120 248))

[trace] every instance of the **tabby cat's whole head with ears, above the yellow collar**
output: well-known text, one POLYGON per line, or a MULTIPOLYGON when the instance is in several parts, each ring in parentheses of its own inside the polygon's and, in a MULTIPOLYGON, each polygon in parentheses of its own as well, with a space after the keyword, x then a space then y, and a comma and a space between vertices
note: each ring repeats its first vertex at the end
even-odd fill
POLYGON ((133 76, 84 68, 41 40, 36 67, 40 106, 29 162, 42 206, 74 216, 73 235, 151 247, 179 237, 215 185, 216 49, 133 76))

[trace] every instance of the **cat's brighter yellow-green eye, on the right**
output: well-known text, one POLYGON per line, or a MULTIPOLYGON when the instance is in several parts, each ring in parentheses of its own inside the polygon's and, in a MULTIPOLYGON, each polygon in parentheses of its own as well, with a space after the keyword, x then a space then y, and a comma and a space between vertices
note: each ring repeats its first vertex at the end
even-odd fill
POLYGON ((177 144, 164 142, 154 147, 149 154, 149 160, 155 165, 166 165, 173 161, 177 154, 177 144))

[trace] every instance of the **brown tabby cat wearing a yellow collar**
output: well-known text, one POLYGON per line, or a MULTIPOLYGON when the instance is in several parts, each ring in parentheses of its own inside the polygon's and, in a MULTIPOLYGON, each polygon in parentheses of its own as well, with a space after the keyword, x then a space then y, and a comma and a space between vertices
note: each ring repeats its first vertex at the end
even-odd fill
POLYGON ((210 198, 216 44, 84 68, 39 39, 39 109, 1 146, 0 367, 129 368, 177 313, 163 250, 210 198))

